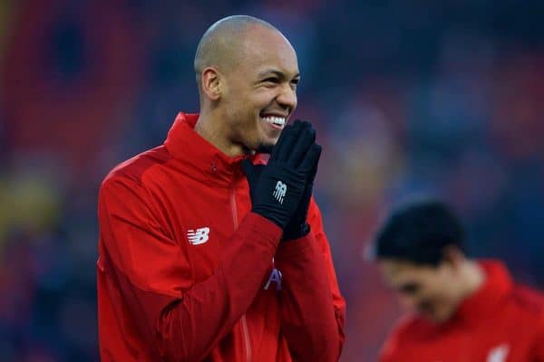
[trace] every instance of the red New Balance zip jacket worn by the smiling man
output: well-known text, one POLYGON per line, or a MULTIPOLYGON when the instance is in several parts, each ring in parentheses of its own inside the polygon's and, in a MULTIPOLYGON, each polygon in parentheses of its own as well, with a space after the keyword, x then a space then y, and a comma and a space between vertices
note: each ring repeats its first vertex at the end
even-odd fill
POLYGON ((280 243, 250 212, 243 157, 201 138, 197 119, 180 113, 164 145, 102 183, 102 361, 337 360, 345 301, 316 203, 311 233, 280 243))

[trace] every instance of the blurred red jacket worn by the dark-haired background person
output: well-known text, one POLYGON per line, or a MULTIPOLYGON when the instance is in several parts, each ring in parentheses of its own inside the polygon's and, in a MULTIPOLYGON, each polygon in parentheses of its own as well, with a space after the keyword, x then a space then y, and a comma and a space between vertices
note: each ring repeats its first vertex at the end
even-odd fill
POLYGON ((544 296, 513 283, 501 262, 481 262, 483 286, 452 319, 405 319, 381 362, 544 362, 544 296))

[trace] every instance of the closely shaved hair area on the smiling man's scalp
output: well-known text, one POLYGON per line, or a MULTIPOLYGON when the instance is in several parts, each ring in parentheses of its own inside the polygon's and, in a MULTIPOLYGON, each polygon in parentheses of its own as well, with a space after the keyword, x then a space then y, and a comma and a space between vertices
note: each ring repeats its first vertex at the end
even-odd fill
POLYGON ((260 26, 280 33, 272 24, 248 15, 225 17, 202 35, 195 55, 195 73, 200 90, 200 75, 210 66, 228 71, 238 64, 243 57, 243 45, 248 29, 260 26))

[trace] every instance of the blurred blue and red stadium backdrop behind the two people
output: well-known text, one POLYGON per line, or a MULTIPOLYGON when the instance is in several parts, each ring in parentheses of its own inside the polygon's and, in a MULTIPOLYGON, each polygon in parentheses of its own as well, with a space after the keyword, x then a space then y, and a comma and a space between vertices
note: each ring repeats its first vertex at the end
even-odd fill
POLYGON ((343 361, 375 360, 401 313, 363 252, 405 195, 451 202, 471 255, 544 288, 541 1, 196 4, 0 0, 2 361, 98 360, 102 178, 198 111, 194 52, 228 14, 277 25, 298 52, 296 116, 324 147, 316 198, 347 300, 343 361))

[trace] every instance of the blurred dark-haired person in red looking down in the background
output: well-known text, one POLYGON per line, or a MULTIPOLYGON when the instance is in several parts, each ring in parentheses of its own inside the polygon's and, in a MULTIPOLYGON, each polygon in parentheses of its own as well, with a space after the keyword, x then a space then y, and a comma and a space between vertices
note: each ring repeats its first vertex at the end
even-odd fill
POLYGON ((458 218, 439 201, 399 207, 374 257, 406 316, 381 362, 543 362, 544 296, 514 283, 498 261, 465 256, 458 218))

